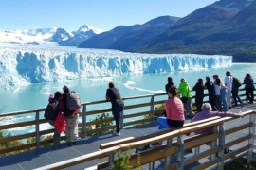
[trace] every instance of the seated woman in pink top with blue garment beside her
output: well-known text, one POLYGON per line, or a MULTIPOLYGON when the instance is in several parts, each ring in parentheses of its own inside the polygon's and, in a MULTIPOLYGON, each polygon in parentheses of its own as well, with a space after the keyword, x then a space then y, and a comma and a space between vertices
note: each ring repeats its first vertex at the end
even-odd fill
POLYGON ((171 87, 168 91, 169 99, 165 101, 165 110, 167 117, 158 117, 158 129, 183 127, 184 125, 184 108, 181 100, 177 97, 176 87, 171 87))

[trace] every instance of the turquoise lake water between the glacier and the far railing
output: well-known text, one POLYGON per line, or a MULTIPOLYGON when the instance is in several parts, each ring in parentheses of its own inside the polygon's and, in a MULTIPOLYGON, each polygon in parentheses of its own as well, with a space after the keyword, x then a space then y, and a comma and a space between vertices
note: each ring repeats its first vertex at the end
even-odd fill
POLYGON ((31 84, 16 87, 12 90, 0 90, 0 108, 2 108, 1 112, 46 108, 49 94, 55 93, 56 91, 62 92, 64 85, 80 93, 82 102, 88 102, 104 100, 108 82, 110 81, 114 82, 116 87, 119 88, 122 97, 164 93, 164 86, 167 83, 168 76, 173 77, 176 85, 178 85, 181 78, 186 78, 192 87, 197 82, 198 78, 203 78, 205 81, 206 76, 210 76, 212 79, 212 75, 218 74, 221 79, 224 79, 226 71, 229 70, 232 76, 243 81, 247 73, 251 73, 251 75, 254 76, 255 66, 256 63, 234 63, 232 66, 225 68, 200 71, 178 71, 160 74, 116 76, 101 79, 81 79, 62 83, 50 82, 31 84))

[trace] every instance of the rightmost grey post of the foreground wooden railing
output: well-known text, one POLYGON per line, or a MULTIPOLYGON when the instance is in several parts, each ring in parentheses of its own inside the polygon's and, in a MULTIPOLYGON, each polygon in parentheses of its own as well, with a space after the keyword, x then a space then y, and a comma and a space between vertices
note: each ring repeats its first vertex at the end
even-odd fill
POLYGON ((254 140, 255 140, 255 113, 250 114, 249 116, 249 135, 250 138, 248 140, 248 155, 247 155, 247 162, 249 163, 252 160, 252 154, 253 154, 253 147, 254 147, 254 140))

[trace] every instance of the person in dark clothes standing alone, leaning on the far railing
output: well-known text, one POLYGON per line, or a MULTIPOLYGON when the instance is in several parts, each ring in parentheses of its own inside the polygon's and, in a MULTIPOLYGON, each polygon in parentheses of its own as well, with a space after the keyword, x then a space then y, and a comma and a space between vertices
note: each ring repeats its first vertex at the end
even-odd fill
POLYGON ((122 128, 122 114, 124 104, 119 93, 119 89, 115 87, 113 82, 108 84, 108 89, 106 90, 106 100, 110 100, 112 105, 112 114, 116 122, 116 130, 113 132, 113 135, 120 135, 120 128, 122 128))

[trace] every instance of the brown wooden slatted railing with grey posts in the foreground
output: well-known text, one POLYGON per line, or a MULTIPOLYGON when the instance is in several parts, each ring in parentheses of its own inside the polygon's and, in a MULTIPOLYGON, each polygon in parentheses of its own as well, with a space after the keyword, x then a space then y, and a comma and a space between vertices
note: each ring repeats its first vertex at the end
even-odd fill
POLYGON ((249 110, 243 113, 244 116, 249 116, 249 119, 243 120, 243 125, 232 124, 233 127, 230 129, 225 129, 224 124, 229 121, 233 121, 235 118, 225 117, 215 120, 210 120, 210 122, 194 122, 192 126, 185 126, 179 129, 171 130, 170 132, 148 136, 139 141, 129 142, 126 144, 117 144, 102 150, 83 155, 74 159, 60 161, 54 164, 46 165, 40 167, 37 170, 46 169, 64 169, 77 164, 85 163, 87 161, 93 161, 96 159, 108 158, 102 161, 98 165, 91 167, 90 169, 104 169, 111 167, 115 163, 118 151, 128 151, 131 152, 131 157, 129 160, 132 168, 136 168, 141 165, 149 165, 149 169, 155 169, 155 161, 164 161, 164 165, 161 168, 164 169, 184 169, 185 166, 191 163, 210 157, 210 160, 198 163, 193 169, 206 169, 206 168, 217 168, 223 169, 224 164, 233 161, 234 158, 239 158, 247 156, 247 161, 252 160, 253 146, 255 140, 255 117, 256 112, 249 110), (248 120, 248 121, 246 121, 248 120), (211 128, 212 133, 206 135, 193 135, 187 137, 187 134, 192 133, 198 129, 211 128), (227 140, 228 135, 233 135, 241 132, 241 130, 246 130, 245 135, 236 135, 235 139, 227 140), (176 139, 176 141, 174 141, 176 139), (163 142, 162 145, 157 146, 153 149, 146 150, 139 154, 134 153, 134 149, 147 145, 163 142), (184 159, 185 150, 191 148, 198 148, 201 145, 210 143, 210 148, 200 152, 199 149, 195 149, 196 152, 190 157, 184 159), (237 146, 239 144, 239 146, 237 146), (224 149, 227 147, 232 147, 234 150, 228 154, 224 154, 224 149), (176 157, 176 159, 173 159, 176 157), (231 160, 229 160, 231 159, 231 160))

